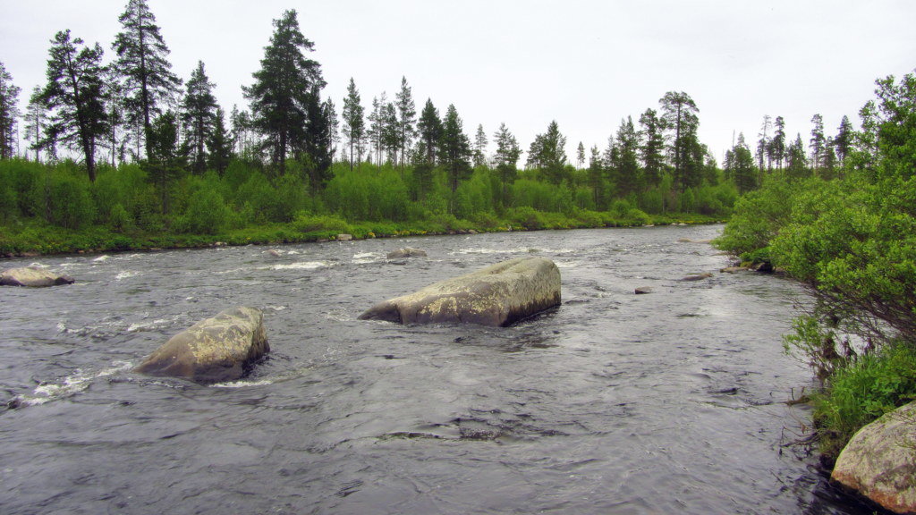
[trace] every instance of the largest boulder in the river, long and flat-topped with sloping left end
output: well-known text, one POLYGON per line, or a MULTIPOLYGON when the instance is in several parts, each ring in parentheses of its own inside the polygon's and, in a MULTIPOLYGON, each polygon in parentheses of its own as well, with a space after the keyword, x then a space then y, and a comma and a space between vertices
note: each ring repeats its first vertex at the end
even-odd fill
POLYGON ((559 304, 560 270, 553 261, 519 257, 379 302, 359 318, 506 326, 559 304))

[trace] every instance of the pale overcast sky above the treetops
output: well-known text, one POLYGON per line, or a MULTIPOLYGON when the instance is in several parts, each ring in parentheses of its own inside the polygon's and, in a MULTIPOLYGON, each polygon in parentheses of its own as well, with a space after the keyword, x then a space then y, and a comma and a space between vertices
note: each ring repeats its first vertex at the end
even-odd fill
MULTIPOLYGON (((492 139, 505 122, 527 150, 556 120, 571 160, 580 141, 604 149, 622 118, 636 123, 668 91, 691 95, 700 139, 720 164, 734 134, 757 139, 763 115, 783 116, 790 137, 807 142, 820 113, 832 136, 843 115, 858 127, 875 79, 916 68, 911 0, 147 2, 173 71, 187 79, 202 60, 227 112, 246 107, 241 86, 259 68, 271 20, 294 8, 338 111, 351 77, 368 109, 404 76, 418 111, 427 98, 442 115, 454 104, 472 138, 478 124, 492 139)), ((0 5, 0 61, 24 108, 57 31, 98 41, 112 59, 126 0, 0 5)))

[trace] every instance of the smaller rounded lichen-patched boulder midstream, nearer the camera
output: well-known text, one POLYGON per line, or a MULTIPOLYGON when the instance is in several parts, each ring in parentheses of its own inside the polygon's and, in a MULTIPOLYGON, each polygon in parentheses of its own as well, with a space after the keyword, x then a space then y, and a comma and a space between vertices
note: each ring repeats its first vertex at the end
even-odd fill
POLYGON ((263 313, 237 307, 175 334, 136 371, 201 383, 229 381, 241 378, 245 367, 269 350, 263 313))

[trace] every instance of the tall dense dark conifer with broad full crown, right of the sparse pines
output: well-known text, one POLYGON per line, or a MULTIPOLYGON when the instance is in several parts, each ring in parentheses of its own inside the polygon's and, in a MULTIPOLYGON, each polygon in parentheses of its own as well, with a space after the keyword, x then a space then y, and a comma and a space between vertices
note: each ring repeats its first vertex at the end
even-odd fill
POLYGON ((304 152, 309 145, 307 126, 317 116, 309 108, 321 105, 310 97, 315 88, 324 87, 324 80, 321 65, 305 57, 314 43, 302 35, 296 11, 285 11, 273 25, 261 69, 252 74, 255 83, 242 90, 251 102, 252 126, 264 137, 262 148, 282 175, 289 154, 304 152))

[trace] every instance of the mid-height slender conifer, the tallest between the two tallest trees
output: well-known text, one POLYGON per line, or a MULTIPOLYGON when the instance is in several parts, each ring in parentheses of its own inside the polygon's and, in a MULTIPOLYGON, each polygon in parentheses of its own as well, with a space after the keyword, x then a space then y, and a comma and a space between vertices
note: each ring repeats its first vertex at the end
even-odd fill
POLYGON ((207 167, 206 143, 213 136, 218 108, 213 95, 214 87, 203 69, 203 61, 197 61, 197 68, 191 71, 188 91, 181 102, 185 146, 191 159, 191 170, 195 173, 203 173, 207 167))

